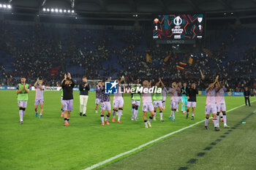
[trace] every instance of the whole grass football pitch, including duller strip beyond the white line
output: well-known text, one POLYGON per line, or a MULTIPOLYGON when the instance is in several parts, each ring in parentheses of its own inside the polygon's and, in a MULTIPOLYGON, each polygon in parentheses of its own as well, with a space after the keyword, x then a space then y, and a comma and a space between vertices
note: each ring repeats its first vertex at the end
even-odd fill
MULTIPOLYGON (((19 123, 15 90, 0 90, 0 96, 0 169, 86 169, 204 120, 206 103, 205 96, 197 96, 195 120, 190 117, 186 120, 185 115, 176 112, 176 122, 173 122, 168 119, 169 97, 163 111, 165 122, 159 121, 157 112, 157 121, 152 120, 152 128, 146 129, 141 107, 139 121, 130 120, 131 98, 125 96, 122 123, 110 121, 110 125, 102 126, 100 114, 94 110, 95 93, 89 93, 88 116, 80 117, 79 93, 74 92, 70 125, 64 127, 58 91, 45 91, 41 119, 34 117, 35 92, 31 91, 23 125, 19 123)), ((214 131, 209 121, 210 130, 206 131, 204 123, 198 123, 97 169, 255 169, 255 103, 252 107, 239 107, 244 104, 244 97, 225 99, 227 110, 238 107, 227 113, 230 128, 222 128, 220 123, 222 131, 214 131)))

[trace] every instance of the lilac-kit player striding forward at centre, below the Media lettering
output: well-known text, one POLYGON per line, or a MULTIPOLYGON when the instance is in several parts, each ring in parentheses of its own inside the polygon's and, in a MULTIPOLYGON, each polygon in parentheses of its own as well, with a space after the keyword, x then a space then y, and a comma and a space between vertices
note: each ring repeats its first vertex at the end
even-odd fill
POLYGON ((143 119, 144 119, 144 123, 145 123, 145 128, 151 128, 151 120, 154 117, 154 107, 152 104, 152 99, 151 99, 151 93, 146 93, 146 91, 148 91, 148 88, 151 88, 151 81, 148 82, 148 80, 144 80, 143 81, 143 93, 141 94, 142 97, 142 109, 143 109, 143 119), (144 93, 145 92, 145 93, 144 93), (147 112, 150 112, 150 116, 147 120, 147 112))

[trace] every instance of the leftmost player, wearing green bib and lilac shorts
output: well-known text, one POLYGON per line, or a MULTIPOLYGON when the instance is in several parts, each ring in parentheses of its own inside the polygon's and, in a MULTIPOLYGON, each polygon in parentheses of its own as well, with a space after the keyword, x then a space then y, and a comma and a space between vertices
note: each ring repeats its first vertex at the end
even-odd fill
POLYGON ((20 124, 23 124, 23 116, 25 115, 26 105, 29 100, 29 84, 26 84, 26 77, 20 77, 20 83, 16 88, 18 107, 20 108, 20 124))

